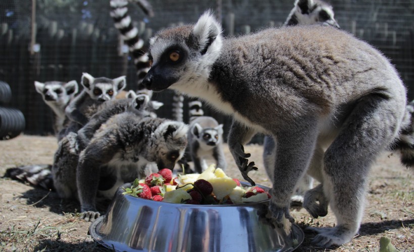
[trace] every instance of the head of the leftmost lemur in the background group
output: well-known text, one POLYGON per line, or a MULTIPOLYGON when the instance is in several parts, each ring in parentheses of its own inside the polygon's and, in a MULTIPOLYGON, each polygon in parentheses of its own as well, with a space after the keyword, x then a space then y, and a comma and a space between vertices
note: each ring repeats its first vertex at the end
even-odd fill
POLYGON ((46 104, 66 106, 69 101, 78 92, 78 83, 76 81, 59 82, 49 81, 45 83, 34 82, 36 91, 42 95, 46 104))

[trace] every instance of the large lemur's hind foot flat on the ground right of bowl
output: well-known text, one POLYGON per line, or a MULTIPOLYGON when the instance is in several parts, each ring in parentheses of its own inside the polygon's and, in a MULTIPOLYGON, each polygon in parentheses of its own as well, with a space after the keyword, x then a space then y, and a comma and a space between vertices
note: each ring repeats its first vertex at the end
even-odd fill
POLYGON ((354 233, 343 226, 336 227, 307 227, 306 232, 317 233, 311 243, 317 247, 340 246, 350 241, 354 233))

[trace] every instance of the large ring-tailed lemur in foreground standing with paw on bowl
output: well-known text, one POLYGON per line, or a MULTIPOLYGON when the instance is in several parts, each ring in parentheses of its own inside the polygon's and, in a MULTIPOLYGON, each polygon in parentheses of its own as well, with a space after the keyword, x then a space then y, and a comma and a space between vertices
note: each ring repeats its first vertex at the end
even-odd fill
MULTIPOLYGON (((211 13, 195 25, 150 39, 151 69, 143 84, 200 97, 233 116, 228 145, 243 177, 257 170, 243 145, 256 132, 274 137, 276 160, 270 210, 282 225, 290 197, 315 152, 313 174, 337 218, 312 228, 317 246, 349 241, 363 216, 368 172, 375 158, 408 127, 406 90, 394 66, 368 43, 336 28, 294 26, 222 37, 211 13)), ((310 167, 312 168, 312 167, 310 167)), ((312 173, 311 173, 312 174, 312 173)))

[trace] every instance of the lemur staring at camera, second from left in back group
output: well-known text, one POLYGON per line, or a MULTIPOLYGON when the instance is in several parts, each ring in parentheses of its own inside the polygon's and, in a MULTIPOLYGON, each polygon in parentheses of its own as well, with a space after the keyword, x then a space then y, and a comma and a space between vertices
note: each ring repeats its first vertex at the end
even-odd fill
POLYGON ((65 112, 70 120, 83 126, 100 104, 114 99, 118 92, 125 88, 126 80, 125 76, 115 79, 93 78, 90 74, 83 73, 81 84, 82 92, 69 103, 65 112))

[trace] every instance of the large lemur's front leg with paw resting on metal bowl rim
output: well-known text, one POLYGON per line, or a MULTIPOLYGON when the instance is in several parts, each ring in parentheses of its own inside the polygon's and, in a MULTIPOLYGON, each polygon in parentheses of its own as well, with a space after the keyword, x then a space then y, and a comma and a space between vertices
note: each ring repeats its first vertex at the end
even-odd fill
POLYGON ((318 136, 317 120, 312 116, 301 118, 275 135, 278 141, 270 210, 276 222, 283 225, 284 218, 294 222, 289 214, 290 198, 312 158, 318 136))

